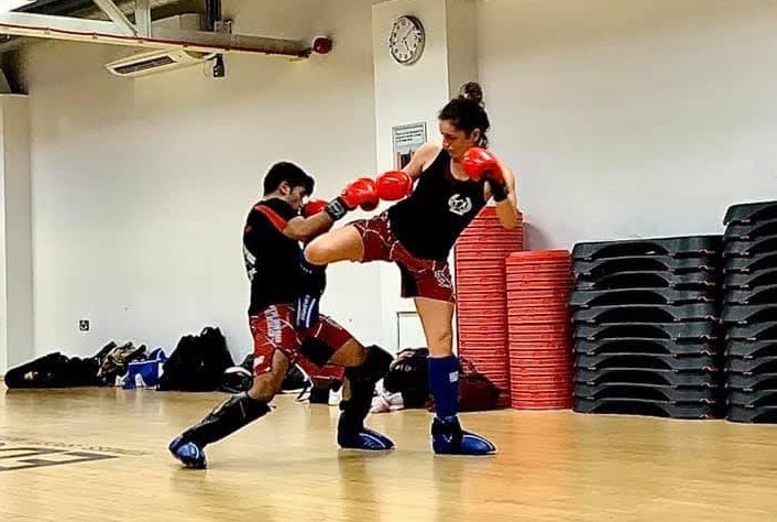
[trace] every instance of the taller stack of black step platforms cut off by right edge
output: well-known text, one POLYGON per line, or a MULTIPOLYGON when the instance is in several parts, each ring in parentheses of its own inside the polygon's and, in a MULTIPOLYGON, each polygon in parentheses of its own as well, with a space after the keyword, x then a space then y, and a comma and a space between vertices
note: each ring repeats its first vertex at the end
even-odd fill
POLYGON ((777 202, 724 218, 726 417, 777 422, 777 202))

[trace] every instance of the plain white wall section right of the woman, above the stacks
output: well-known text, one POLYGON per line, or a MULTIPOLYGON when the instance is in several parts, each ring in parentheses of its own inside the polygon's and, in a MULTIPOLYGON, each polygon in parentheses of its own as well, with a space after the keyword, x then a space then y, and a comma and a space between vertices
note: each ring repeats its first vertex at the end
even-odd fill
POLYGON ((479 65, 529 247, 722 231, 777 197, 777 2, 489 0, 479 65))

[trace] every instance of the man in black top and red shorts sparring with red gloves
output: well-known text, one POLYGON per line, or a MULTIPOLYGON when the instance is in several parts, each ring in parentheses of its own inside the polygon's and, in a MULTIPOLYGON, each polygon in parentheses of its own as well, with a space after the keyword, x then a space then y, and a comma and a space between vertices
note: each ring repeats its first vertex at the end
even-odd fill
MULTIPOLYGON (((391 195, 391 182, 387 186, 391 195)), ((382 450, 394 446, 387 437, 364 426, 375 383, 393 358, 376 346, 364 347, 342 326, 318 313, 325 275, 304 269, 299 244, 329 230, 332 215, 340 215, 343 208, 375 208, 376 187, 355 183, 330 203, 303 204, 313 189, 313 177, 292 163, 276 163, 264 177, 264 197, 250 210, 243 229, 243 257, 251 282, 248 312, 254 340, 253 385, 226 400, 171 442, 169 452, 186 467, 205 468, 204 449, 208 444, 267 414, 289 365, 299 357, 317 366, 346 367, 337 427, 340 447, 382 450)))

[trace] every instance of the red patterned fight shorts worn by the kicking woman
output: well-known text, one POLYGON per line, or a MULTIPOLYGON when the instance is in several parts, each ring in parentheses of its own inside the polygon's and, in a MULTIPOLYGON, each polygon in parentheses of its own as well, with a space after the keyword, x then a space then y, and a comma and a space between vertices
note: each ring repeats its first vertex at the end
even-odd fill
POLYGON ((449 303, 456 301, 448 262, 415 258, 392 232, 386 213, 351 225, 359 231, 364 243, 362 262, 393 261, 400 267, 403 297, 428 297, 449 303))

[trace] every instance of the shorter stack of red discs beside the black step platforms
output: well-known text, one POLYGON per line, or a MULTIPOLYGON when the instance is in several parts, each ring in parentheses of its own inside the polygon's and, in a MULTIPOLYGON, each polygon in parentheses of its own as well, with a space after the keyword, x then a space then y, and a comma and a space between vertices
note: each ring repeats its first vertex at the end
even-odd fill
POLYGON ((506 260, 511 405, 556 410, 572 405, 566 250, 516 252, 506 260))

